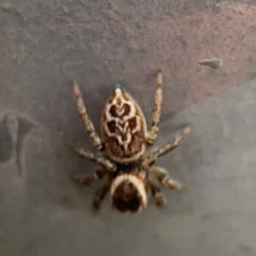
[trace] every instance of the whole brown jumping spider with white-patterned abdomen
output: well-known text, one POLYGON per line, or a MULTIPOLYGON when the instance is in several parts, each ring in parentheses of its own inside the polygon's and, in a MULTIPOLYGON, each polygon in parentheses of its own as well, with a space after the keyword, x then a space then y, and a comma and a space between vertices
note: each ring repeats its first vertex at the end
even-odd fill
POLYGON ((140 212, 147 207, 148 188, 151 190, 154 203, 160 208, 166 206, 166 198, 160 189, 160 184, 177 191, 185 189, 185 185, 172 179, 164 168, 153 165, 160 156, 177 147, 183 136, 190 132, 190 125, 179 131, 177 136, 163 147, 147 150, 154 144, 159 131, 163 96, 161 70, 156 73, 156 84, 150 130, 147 129, 146 119, 137 102, 117 85, 102 113, 102 138, 96 133, 84 106, 79 84, 73 84, 73 94, 76 96, 79 114, 89 133, 90 142, 99 153, 93 154, 82 148, 74 148, 69 143, 67 147, 81 158, 100 166, 90 175, 73 174, 73 181, 88 186, 108 176, 107 181, 94 196, 95 210, 100 209, 102 200, 109 191, 113 209, 119 212, 140 212))

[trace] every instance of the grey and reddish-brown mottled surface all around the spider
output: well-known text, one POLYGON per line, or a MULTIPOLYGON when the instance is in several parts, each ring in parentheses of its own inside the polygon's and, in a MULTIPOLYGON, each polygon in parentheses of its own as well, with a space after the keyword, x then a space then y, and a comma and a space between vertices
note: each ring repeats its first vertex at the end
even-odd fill
POLYGON ((244 84, 255 78, 256 9, 176 2, 0 3, 1 256, 256 255, 256 81, 244 84), (209 57, 224 67, 197 65, 209 57), (98 184, 69 179, 96 167, 63 146, 92 149, 70 82, 81 84, 99 128, 118 80, 150 117, 157 67, 166 83, 156 145, 193 125, 159 164, 189 189, 166 191, 164 211, 151 203, 120 215, 108 198, 95 214, 98 184))

